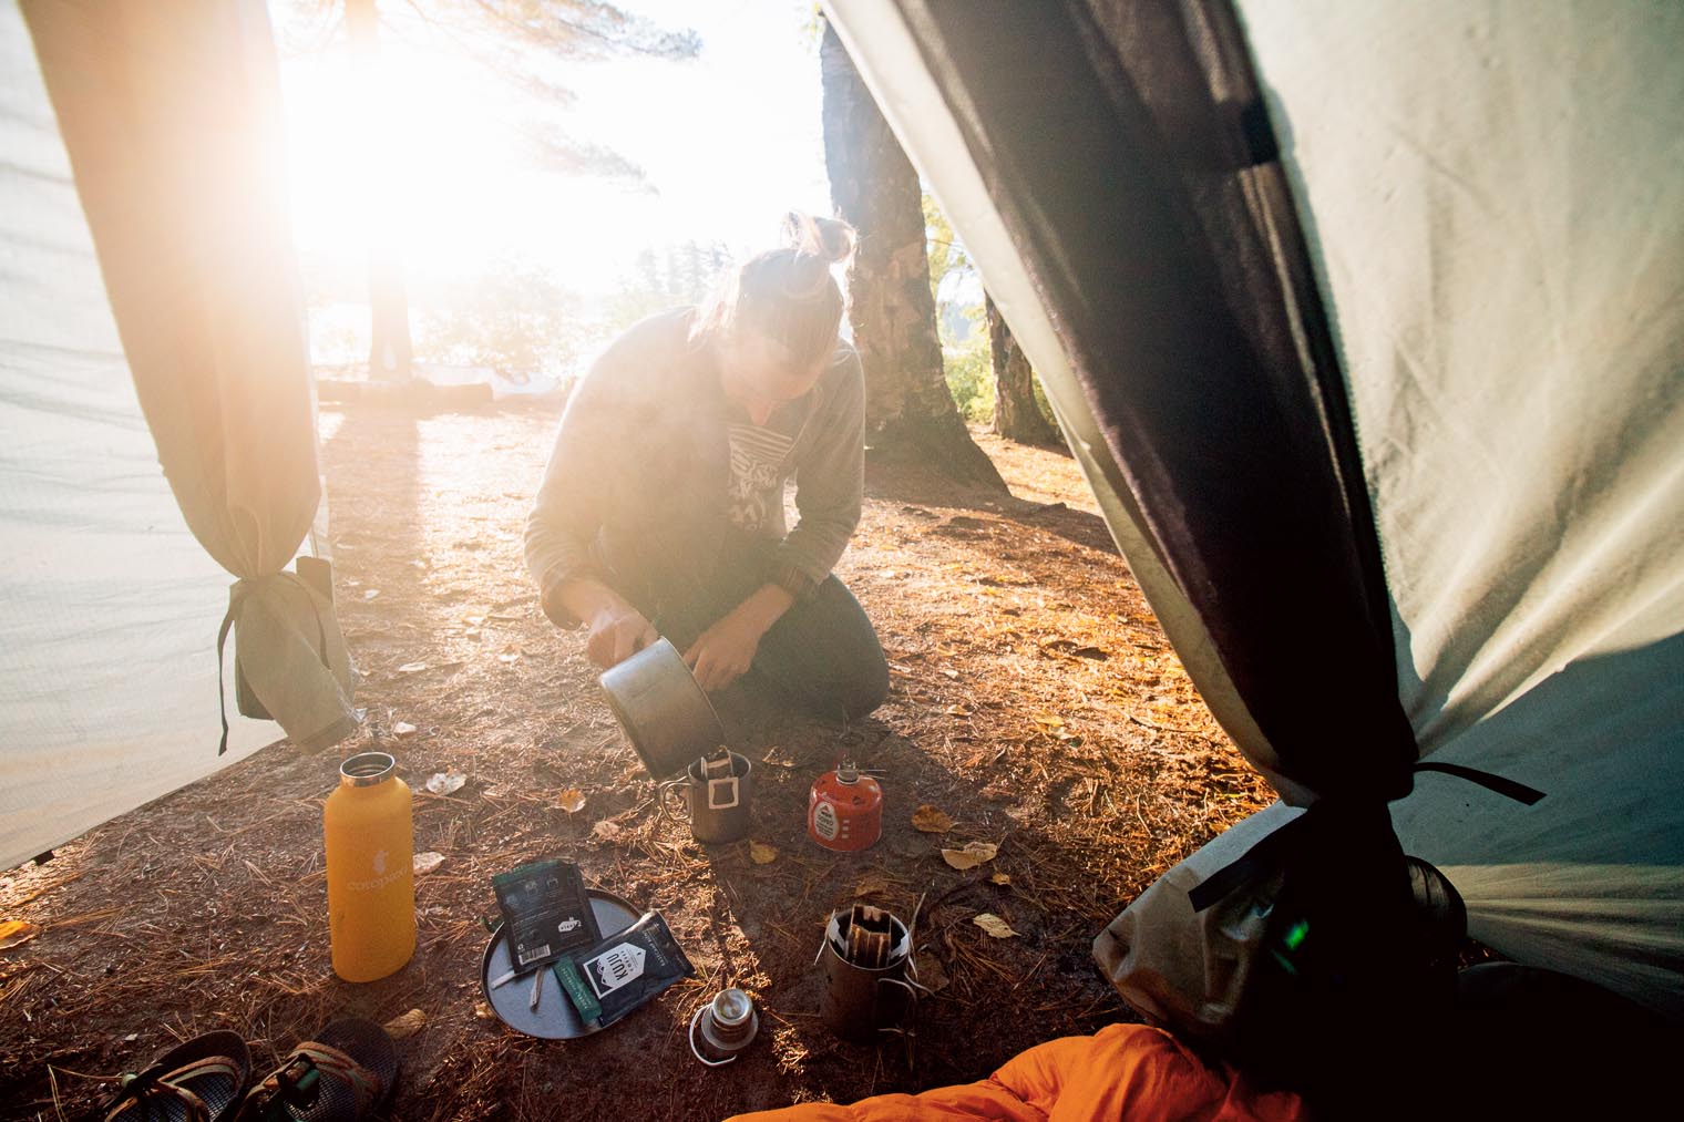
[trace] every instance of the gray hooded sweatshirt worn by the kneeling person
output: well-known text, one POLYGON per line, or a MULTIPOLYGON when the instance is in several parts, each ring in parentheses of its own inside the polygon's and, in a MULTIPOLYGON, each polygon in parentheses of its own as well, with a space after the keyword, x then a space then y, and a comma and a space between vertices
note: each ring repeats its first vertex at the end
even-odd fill
POLYGON ((561 418, 525 558, 562 627, 578 623, 552 596, 562 581, 613 585, 652 558, 701 564, 733 532, 766 544, 763 583, 802 598, 859 524, 866 379, 854 349, 839 340, 813 387, 756 426, 721 389, 712 349, 690 340, 694 315, 677 308, 625 332, 561 418), (793 529, 783 512, 791 478, 793 529))

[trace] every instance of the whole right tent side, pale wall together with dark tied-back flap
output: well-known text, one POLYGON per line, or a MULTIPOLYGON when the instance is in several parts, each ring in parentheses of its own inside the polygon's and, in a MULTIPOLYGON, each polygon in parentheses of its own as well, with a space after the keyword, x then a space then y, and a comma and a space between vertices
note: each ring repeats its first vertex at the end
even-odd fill
MULTIPOLYGON (((1391 790, 1399 743, 1548 792, 1522 807, 1421 775, 1394 822, 1458 886, 1475 937, 1684 1014, 1679 10, 827 8, 1241 750, 1295 802, 1366 770, 1391 790), (1116 214, 1135 209, 1150 221, 1116 214), (1241 359, 1199 345, 1201 313, 1228 318, 1212 335, 1241 359), (1238 384, 1263 419, 1204 433, 1177 377, 1238 384), (1138 416, 1160 409, 1180 409, 1186 448, 1138 416), (1315 487, 1260 470, 1271 440, 1295 472, 1327 460, 1315 487), (1231 494, 1209 499, 1211 480, 1231 494), (1325 519, 1354 539, 1332 542, 1340 564, 1307 564, 1310 586, 1221 568, 1223 551, 1248 554, 1236 526, 1271 571, 1320 553, 1337 536, 1325 519), (1276 534, 1305 526, 1324 537, 1303 553, 1276 534), (1179 558, 1207 546, 1204 569, 1179 558), (1251 603, 1271 595, 1295 610, 1251 603), (1384 704, 1376 595, 1394 650, 1384 704), (1344 623, 1317 625, 1324 610, 1344 623), (1282 672, 1250 674, 1255 659, 1282 672), (1340 706, 1344 660, 1362 686, 1340 706), (1305 713, 1280 721, 1265 701, 1305 713), (1298 729, 1334 714, 1344 745, 1307 756, 1298 729)), ((1238 856, 1229 841, 1212 851, 1238 856)))

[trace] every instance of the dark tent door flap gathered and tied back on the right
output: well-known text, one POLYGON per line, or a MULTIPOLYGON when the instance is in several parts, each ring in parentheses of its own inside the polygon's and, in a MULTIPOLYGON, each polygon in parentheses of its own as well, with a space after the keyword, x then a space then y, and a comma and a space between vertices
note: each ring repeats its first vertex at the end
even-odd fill
POLYGON ((1251 180, 1270 172, 1244 172, 1243 115, 1216 101, 1243 101, 1246 74, 1223 76, 1234 91, 1211 89, 1172 39, 1187 37, 1179 19, 1148 29, 1140 57, 1165 69, 1189 59, 1191 93, 1169 120, 1135 89, 1133 56, 1079 5, 992 3, 985 17, 940 0, 894 7, 940 57, 933 79, 1021 266, 1058 308, 1059 342, 1155 553, 1282 770, 1324 797, 1408 792, 1415 740, 1349 411, 1337 369, 1295 345, 1307 332, 1263 268, 1266 236, 1285 232, 1253 229, 1248 206, 1251 180), (1189 121, 1189 108, 1206 120, 1189 121), (1233 158, 1174 148, 1172 123, 1226 140, 1233 158), (1184 180, 1184 163, 1201 182, 1184 180), (1244 268, 1228 276, 1236 259, 1244 268), (1307 674, 1317 706, 1303 704, 1307 674))

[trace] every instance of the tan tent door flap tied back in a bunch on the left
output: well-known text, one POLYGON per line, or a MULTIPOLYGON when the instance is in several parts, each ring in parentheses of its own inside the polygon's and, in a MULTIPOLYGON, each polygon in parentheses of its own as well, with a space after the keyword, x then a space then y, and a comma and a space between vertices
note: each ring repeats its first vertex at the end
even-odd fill
POLYGON ((355 728, 338 627, 281 573, 322 489, 268 10, 24 12, 163 473, 239 578, 227 615, 241 679, 301 748, 337 743, 355 728))

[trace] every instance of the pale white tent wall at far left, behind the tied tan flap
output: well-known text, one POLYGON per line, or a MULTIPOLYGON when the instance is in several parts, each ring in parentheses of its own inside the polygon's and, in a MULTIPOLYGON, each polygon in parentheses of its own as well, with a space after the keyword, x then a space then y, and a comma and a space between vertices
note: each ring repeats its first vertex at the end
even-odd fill
MULTIPOLYGON (((0 3, 0 868, 217 760, 227 573, 182 521, 15 3, 0 3)), ((234 652, 227 652, 232 681, 234 652)))

